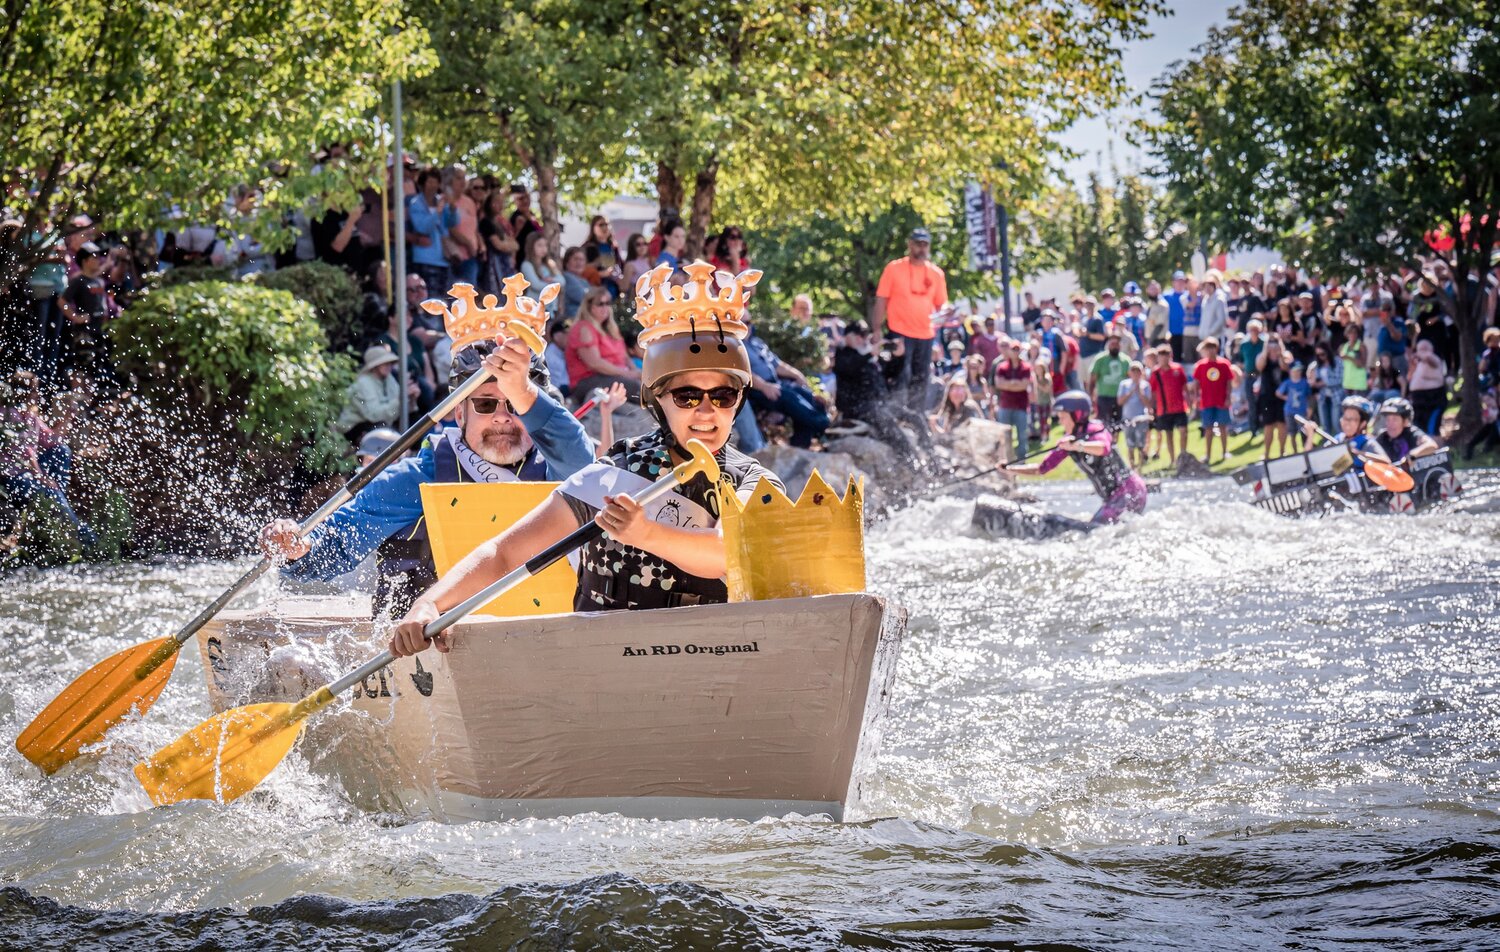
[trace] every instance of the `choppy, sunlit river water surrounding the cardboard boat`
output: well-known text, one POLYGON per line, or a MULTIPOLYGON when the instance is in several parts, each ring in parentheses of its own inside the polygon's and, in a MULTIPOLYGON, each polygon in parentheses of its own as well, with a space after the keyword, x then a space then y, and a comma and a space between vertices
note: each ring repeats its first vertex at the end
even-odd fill
POLYGON ((1308 522, 1168 486, 1047 543, 897 513, 870 588, 912 627, 846 823, 440 825, 300 754, 232 805, 148 810, 134 759, 210 712, 186 654, 44 780, 10 745, 30 718, 243 565, 8 576, 0 948, 1500 948, 1500 478, 1467 481, 1308 522))

